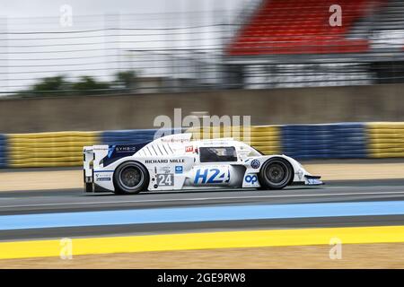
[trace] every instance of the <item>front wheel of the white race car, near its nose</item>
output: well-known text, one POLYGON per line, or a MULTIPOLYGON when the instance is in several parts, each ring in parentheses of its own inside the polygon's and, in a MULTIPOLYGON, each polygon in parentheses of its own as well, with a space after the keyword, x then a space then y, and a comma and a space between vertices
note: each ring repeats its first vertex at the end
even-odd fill
POLYGON ((272 158, 259 170, 259 184, 263 188, 283 189, 293 180, 294 169, 284 158, 272 158))

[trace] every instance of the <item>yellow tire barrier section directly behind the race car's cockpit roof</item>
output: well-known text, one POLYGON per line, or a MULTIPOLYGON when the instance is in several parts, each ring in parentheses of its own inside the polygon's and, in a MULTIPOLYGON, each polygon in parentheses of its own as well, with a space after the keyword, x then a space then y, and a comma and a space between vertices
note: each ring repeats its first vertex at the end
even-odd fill
POLYGON ((233 137, 264 154, 281 152, 279 126, 202 126, 191 127, 186 132, 192 133, 193 139, 233 137))

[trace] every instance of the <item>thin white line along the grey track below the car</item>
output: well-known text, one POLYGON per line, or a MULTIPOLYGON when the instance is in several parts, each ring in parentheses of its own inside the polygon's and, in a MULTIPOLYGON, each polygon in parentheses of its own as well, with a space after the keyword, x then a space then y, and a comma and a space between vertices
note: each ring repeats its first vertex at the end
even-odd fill
POLYGON ((254 199, 254 198, 287 198, 287 197, 313 197, 313 196, 385 196, 404 195, 404 191, 383 191, 383 192, 359 192, 359 193, 335 193, 335 194, 308 194, 308 195, 278 195, 278 196, 223 196, 223 197, 195 197, 195 198, 168 198, 151 200, 129 200, 129 201, 105 201, 105 202, 81 202, 81 203, 61 203, 61 204, 26 204, 26 205, 3 205, 0 208, 16 207, 46 207, 63 205, 93 205, 93 204, 146 204, 159 202, 187 202, 187 201, 207 201, 224 199, 254 199))

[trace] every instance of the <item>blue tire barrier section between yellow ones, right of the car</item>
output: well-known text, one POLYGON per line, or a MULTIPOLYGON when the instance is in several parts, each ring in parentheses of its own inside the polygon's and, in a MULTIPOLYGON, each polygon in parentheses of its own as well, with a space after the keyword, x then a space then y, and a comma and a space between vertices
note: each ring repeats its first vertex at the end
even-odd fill
POLYGON ((366 157, 364 124, 281 126, 282 150, 296 159, 366 157))

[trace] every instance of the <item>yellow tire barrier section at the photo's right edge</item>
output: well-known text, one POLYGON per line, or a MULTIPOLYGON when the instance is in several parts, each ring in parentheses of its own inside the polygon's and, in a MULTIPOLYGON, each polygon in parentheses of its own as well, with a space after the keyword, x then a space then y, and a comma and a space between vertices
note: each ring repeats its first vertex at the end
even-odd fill
POLYGON ((404 122, 368 123, 366 131, 369 157, 404 157, 404 122))

